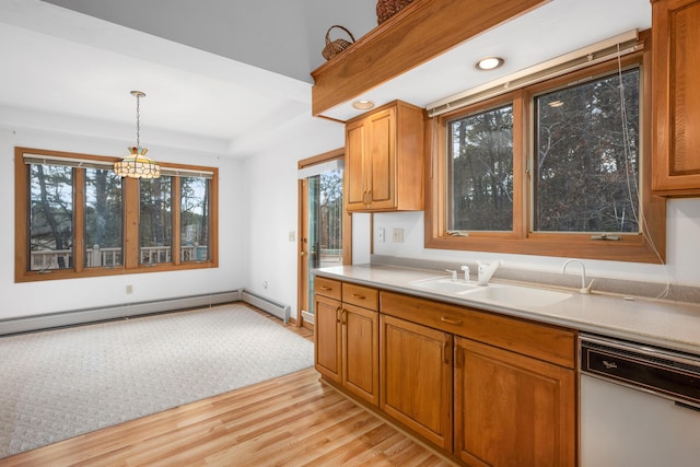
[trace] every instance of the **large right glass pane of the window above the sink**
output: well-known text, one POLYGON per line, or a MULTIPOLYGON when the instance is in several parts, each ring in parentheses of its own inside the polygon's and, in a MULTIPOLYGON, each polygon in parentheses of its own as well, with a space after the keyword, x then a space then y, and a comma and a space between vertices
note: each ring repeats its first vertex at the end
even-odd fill
POLYGON ((634 69, 535 98, 536 231, 639 231, 639 81, 634 69))

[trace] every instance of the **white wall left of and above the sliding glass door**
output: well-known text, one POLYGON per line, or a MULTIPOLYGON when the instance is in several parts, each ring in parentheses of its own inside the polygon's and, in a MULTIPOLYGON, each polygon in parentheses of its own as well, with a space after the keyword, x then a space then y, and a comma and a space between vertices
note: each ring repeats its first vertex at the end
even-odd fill
POLYGON ((275 144, 245 160, 245 199, 249 210, 246 289, 290 305, 295 318, 298 162, 341 148, 345 127, 310 115, 275 129, 271 141, 275 144), (294 241, 289 240, 290 232, 294 233, 294 241))

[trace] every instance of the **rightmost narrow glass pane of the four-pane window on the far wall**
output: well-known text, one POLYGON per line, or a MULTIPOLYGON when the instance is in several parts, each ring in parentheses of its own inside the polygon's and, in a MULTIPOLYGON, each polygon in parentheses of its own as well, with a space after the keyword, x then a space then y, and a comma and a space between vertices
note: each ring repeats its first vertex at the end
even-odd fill
POLYGON ((180 261, 209 259, 209 180, 180 177, 180 261))

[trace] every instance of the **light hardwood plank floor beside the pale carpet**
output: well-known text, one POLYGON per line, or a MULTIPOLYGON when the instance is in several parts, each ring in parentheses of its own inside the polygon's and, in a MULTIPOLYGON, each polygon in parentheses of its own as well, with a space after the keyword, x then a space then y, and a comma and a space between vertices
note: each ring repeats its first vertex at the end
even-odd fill
MULTIPOLYGON (((288 327, 313 340, 307 329, 288 327)), ((73 465, 451 464, 308 369, 0 459, 0 466, 73 465)))

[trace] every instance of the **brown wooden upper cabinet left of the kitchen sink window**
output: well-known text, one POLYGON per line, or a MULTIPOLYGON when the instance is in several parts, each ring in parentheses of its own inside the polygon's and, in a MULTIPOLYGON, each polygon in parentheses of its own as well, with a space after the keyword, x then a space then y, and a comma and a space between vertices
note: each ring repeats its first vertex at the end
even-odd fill
POLYGON ((423 110, 395 101, 346 125, 348 211, 423 209, 423 110))

